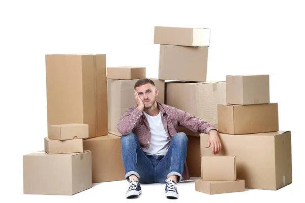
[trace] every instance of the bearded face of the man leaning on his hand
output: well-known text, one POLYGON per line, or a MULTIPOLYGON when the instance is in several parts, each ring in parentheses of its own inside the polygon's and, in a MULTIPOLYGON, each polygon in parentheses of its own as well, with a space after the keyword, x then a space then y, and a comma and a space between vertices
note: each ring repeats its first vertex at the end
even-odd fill
POLYGON ((144 103, 145 109, 149 109, 156 102, 156 96, 158 95, 159 90, 155 86, 147 83, 145 85, 136 87, 136 91, 139 94, 141 100, 144 103))

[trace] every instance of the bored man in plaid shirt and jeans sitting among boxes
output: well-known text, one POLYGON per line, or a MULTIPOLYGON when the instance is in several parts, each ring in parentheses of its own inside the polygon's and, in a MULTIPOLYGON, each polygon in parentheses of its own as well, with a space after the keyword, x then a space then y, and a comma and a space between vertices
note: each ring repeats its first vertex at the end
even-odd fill
POLYGON ((126 198, 141 194, 140 183, 166 183, 165 196, 178 198, 176 184, 190 178, 186 157, 188 138, 178 132, 184 126, 209 134, 206 148, 218 154, 222 146, 214 126, 175 107, 157 101, 159 90, 150 79, 139 79, 134 86, 136 105, 117 124, 125 178, 129 181, 126 198))

